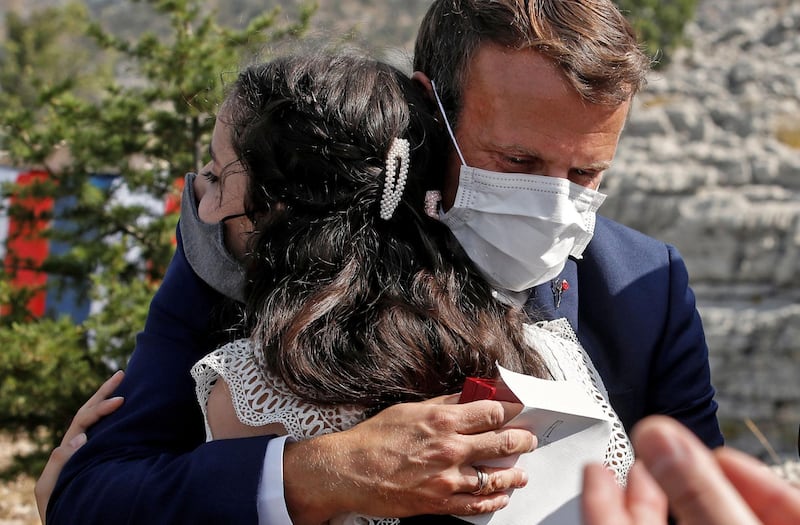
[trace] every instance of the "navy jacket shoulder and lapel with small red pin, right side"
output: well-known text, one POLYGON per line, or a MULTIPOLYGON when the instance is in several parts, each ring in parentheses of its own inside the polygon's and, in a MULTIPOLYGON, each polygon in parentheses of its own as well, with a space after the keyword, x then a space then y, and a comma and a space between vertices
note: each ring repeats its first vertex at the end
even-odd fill
POLYGON ((678 251, 598 217, 583 259, 568 261, 561 279, 569 290, 560 307, 546 283, 528 312, 569 319, 625 428, 666 414, 709 447, 721 445, 708 347, 678 251))

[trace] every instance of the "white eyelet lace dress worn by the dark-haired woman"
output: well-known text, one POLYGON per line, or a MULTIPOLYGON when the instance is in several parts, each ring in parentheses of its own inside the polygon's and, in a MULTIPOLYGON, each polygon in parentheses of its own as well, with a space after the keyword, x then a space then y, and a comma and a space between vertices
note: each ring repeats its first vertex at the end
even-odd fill
MULTIPOLYGON (((525 335, 542 355, 558 381, 575 381, 584 386, 612 421, 612 436, 605 455, 605 465, 625 479, 633 463, 633 450, 622 423, 608 401, 603 381, 591 359, 578 342, 566 319, 526 325, 525 335)), ((308 439, 348 429, 364 417, 363 408, 353 405, 320 407, 304 402, 277 377, 265 373, 256 363, 250 341, 240 339, 215 350, 192 367, 195 390, 206 422, 206 438, 214 436, 208 424, 209 394, 221 377, 228 386, 236 416, 252 427, 281 425, 292 438, 308 439)), ((390 525, 394 518, 371 518, 351 514, 335 520, 347 525, 390 525)))

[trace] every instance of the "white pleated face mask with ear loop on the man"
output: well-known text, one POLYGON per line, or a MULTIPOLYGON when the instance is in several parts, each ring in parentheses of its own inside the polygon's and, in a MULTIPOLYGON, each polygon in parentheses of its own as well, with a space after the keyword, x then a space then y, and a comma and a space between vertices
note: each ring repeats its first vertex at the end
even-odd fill
POLYGON ((433 92, 461 158, 455 202, 441 221, 493 286, 521 292, 554 279, 570 256, 583 255, 606 196, 567 179, 467 166, 433 92))

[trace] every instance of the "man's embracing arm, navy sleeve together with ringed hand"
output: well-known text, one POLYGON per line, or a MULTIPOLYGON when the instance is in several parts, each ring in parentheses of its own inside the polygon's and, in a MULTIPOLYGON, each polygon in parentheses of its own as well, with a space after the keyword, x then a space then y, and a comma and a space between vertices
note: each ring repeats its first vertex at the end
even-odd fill
MULTIPOLYGON (((189 370, 208 348, 218 296, 179 249, 153 299, 147 325, 116 395, 125 404, 101 420, 65 466, 48 524, 257 523, 266 437, 205 443, 189 370)), ((519 469, 484 469, 492 493, 475 496, 473 464, 535 446, 500 429, 519 408, 436 399, 390 407, 337 434, 289 444, 286 505, 298 525, 340 512, 382 516, 478 514, 507 504, 527 481, 519 469)))

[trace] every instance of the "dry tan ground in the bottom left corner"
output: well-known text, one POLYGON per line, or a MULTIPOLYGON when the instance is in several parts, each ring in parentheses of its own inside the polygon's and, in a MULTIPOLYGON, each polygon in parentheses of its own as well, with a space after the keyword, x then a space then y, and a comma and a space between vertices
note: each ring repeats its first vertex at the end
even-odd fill
MULTIPOLYGON (((0 468, 8 466, 15 453, 30 449, 25 441, 0 435, 0 468)), ((33 498, 35 480, 20 476, 13 481, 0 482, 0 525, 39 525, 36 500, 33 498)))

